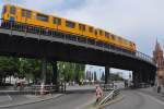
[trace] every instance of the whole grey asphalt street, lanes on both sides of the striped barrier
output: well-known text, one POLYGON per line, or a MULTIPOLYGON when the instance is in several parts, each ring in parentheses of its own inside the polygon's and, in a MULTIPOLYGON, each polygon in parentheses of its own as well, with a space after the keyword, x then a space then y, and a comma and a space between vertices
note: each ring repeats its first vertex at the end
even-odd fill
MULTIPOLYGON (((117 84, 117 86, 121 88, 122 84, 117 84)), ((69 87, 67 94, 59 98, 5 109, 84 109, 85 106, 93 104, 95 100, 93 88, 94 86, 69 87)), ((106 106, 105 109, 163 109, 163 93, 160 95, 152 89, 153 88, 121 89, 124 99, 106 106)), ((1 97, 5 100, 9 96, 1 97)), ((10 97, 12 100, 25 100, 24 96, 11 95, 10 97)))

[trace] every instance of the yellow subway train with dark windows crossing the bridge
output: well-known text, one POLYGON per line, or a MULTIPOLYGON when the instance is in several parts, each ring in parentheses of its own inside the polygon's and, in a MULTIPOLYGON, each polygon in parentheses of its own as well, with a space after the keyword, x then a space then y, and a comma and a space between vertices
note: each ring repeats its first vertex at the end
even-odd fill
MULTIPOLYGON (((70 21, 56 15, 48 15, 38 11, 27 10, 17 5, 5 4, 2 11, 2 20, 17 22, 19 24, 34 25, 42 29, 63 32, 66 34, 85 37, 99 41, 129 53, 136 52, 136 44, 107 31, 92 25, 70 21)), ((36 28, 36 29, 37 29, 36 28)), ((37 31, 36 31, 37 32, 37 31)))

